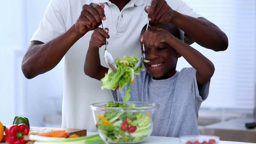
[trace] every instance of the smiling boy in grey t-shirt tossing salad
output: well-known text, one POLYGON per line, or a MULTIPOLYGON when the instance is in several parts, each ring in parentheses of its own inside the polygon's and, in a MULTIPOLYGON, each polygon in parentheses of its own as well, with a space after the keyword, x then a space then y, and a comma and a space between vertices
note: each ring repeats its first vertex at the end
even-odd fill
MULTIPOLYGON (((200 52, 180 40, 179 29, 171 23, 162 23, 141 32, 145 46, 146 71, 135 76, 129 101, 160 104, 154 121, 153 136, 180 137, 198 135, 198 110, 209 92, 214 65, 200 52), (183 56, 193 68, 176 71, 178 58, 183 56)), ((84 72, 100 80, 108 71, 100 65, 99 48, 109 38, 107 29, 98 28, 92 34, 86 55, 84 72)), ((142 49, 143 52, 143 49, 142 49)), ((126 88, 112 92, 115 101, 122 101, 126 88)))

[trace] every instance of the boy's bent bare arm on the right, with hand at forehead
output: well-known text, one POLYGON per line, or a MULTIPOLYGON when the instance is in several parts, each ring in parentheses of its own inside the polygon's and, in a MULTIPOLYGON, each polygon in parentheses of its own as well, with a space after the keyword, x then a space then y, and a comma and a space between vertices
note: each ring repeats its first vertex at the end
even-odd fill
POLYGON ((165 42, 172 46, 196 69, 198 86, 206 84, 214 74, 214 65, 208 58, 166 30, 149 29, 141 36, 140 40, 147 46, 158 46, 160 42, 165 42))

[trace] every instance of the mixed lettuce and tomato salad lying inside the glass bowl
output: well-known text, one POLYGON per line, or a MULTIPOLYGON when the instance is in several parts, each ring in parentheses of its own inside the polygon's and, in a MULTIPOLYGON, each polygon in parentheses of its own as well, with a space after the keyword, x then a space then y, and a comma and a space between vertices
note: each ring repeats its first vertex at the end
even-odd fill
MULTIPOLYGON (((135 105, 110 101, 106 107, 134 108, 135 105)), ((149 115, 149 112, 105 112, 104 116, 96 116, 98 132, 104 135, 106 142, 141 142, 152 132, 149 115)))

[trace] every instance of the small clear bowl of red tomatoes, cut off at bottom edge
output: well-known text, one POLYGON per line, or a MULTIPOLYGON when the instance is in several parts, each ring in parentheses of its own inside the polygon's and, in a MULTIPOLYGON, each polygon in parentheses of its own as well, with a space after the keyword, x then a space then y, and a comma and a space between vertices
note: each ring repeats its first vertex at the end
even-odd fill
POLYGON ((181 144, 218 144, 220 137, 218 136, 180 136, 181 144))

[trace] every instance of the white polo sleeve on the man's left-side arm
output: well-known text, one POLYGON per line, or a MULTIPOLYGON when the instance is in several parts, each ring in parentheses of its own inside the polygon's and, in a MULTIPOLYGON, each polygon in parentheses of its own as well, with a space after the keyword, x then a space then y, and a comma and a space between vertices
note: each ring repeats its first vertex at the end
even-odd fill
POLYGON ((67 8, 66 0, 51 0, 44 14, 44 18, 39 24, 39 28, 30 41, 38 40, 46 43, 66 32, 65 21, 67 8))

